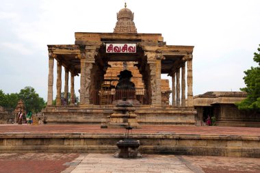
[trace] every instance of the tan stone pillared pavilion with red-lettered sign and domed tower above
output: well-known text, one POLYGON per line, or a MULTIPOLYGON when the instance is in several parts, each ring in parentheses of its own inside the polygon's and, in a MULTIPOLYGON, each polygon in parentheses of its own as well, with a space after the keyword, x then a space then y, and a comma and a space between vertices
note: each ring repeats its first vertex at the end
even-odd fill
POLYGON ((49 80, 47 107, 42 110, 44 122, 101 123, 115 106, 115 86, 120 71, 129 70, 136 88, 134 107, 140 124, 194 124, 194 46, 167 45, 161 34, 138 33, 133 12, 126 5, 117 13, 117 20, 113 33, 76 32, 75 44, 48 45, 49 80), (56 86, 53 86, 54 61, 57 62, 56 86), (172 77, 172 90, 169 81, 161 79, 162 74, 172 77), (75 105, 74 79, 78 76, 80 104, 75 105), (56 96, 53 90, 57 90, 56 96))

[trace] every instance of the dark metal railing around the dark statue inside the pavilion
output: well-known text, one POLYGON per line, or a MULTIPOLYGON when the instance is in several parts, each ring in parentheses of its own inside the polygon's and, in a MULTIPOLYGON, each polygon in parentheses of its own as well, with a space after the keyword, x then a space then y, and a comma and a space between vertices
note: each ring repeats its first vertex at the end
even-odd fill
POLYGON ((147 90, 93 90, 91 92, 91 100, 94 105, 111 105, 115 100, 127 98, 137 100, 141 105, 149 105, 151 97, 147 90))

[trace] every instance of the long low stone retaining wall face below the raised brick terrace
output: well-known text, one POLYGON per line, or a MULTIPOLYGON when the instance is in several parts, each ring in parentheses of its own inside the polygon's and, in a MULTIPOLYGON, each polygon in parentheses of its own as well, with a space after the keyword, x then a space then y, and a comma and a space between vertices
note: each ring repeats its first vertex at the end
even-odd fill
MULTIPOLYGON (((122 134, 4 133, 0 152, 116 152, 122 134)), ((178 135, 174 133, 133 134, 146 154, 210 155, 260 158, 259 136, 178 135)))

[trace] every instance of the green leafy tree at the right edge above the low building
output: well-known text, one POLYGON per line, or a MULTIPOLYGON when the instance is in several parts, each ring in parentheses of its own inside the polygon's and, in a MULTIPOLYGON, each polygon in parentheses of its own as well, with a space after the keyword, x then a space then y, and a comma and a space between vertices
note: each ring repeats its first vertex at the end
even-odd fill
POLYGON ((246 76, 243 79, 246 87, 240 90, 247 92, 248 96, 244 101, 237 103, 238 109, 260 111, 260 44, 257 51, 253 59, 258 66, 244 71, 246 76))

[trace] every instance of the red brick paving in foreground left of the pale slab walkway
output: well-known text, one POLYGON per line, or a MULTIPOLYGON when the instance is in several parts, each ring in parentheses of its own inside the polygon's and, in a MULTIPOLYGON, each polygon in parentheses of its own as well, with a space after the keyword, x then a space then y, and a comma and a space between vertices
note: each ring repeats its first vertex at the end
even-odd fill
POLYGON ((0 153, 0 173, 58 173, 78 153, 0 153))

